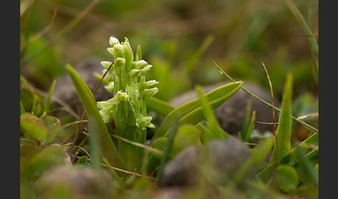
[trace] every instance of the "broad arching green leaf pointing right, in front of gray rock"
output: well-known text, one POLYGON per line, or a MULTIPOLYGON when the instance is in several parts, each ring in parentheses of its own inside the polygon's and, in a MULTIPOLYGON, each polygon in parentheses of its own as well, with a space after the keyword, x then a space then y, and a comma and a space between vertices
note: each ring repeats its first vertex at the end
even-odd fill
MULTIPOLYGON (((218 106, 223 104, 227 101, 234 93, 239 90, 243 81, 236 81, 233 83, 228 83, 225 86, 220 86, 215 90, 204 95, 204 97, 209 102, 211 109, 217 109, 218 106)), ((159 138, 165 136, 168 130, 172 127, 172 122, 175 120, 175 116, 178 112, 181 112, 179 125, 182 124, 192 124, 196 125, 200 120, 204 118, 203 111, 202 111, 202 104, 200 103, 200 99, 192 100, 191 102, 187 102, 182 106, 177 107, 173 111, 171 111, 168 116, 163 120, 162 124, 157 129, 156 133, 154 134, 152 141, 155 138, 159 138)))

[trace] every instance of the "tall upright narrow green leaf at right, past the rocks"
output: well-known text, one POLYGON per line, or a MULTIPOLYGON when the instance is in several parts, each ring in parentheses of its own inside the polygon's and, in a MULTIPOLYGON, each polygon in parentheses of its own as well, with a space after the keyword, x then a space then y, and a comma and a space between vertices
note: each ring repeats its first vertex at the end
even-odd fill
POLYGON ((292 105, 292 86, 293 75, 287 74, 287 81, 284 86, 283 98, 282 98, 282 112, 278 122, 275 147, 273 148, 273 156, 271 157, 271 163, 273 161, 280 161, 290 150, 291 144, 291 105, 292 105))

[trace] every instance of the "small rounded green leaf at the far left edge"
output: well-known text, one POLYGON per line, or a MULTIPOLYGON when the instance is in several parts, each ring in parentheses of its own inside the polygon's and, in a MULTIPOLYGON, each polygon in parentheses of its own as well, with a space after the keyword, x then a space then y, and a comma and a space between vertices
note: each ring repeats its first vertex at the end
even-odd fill
POLYGON ((45 123, 31 113, 21 114, 20 125, 24 131, 40 141, 47 136, 47 127, 45 126, 45 123))

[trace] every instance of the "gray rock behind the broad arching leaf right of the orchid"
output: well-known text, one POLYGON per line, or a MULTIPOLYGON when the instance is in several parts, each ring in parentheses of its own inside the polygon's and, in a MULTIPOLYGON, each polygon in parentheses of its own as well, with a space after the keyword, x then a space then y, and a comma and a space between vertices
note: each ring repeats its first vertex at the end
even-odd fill
MULTIPOLYGON (((211 90, 214 90, 215 88, 223 86, 227 83, 229 82, 220 82, 210 86, 204 86, 204 93, 209 93, 211 90)), ((261 86, 258 86, 255 83, 244 82, 243 87, 250 90, 251 93, 254 93, 266 102, 271 103, 271 94, 261 86)), ((172 100, 170 100, 170 104, 174 106, 180 106, 182 104, 185 104, 186 102, 195 100, 196 98, 198 98, 198 95, 195 90, 190 90, 187 93, 174 97, 172 100)), ((273 112, 271 107, 266 106, 265 104, 256 100, 254 97, 248 95, 248 93, 239 89, 229 100, 220 105, 218 109, 214 111, 216 118, 218 118, 220 126, 225 130, 225 132, 236 135, 239 131, 241 131, 246 113, 246 106, 249 101, 252 102, 251 110, 256 111, 256 121, 273 122, 273 112)), ((277 102, 276 99, 275 106, 280 106, 280 103, 277 102)), ((275 112, 275 115, 277 121, 277 111, 275 112)), ((265 131, 273 132, 273 125, 266 125, 255 122, 255 129, 258 129, 261 133, 265 131)))

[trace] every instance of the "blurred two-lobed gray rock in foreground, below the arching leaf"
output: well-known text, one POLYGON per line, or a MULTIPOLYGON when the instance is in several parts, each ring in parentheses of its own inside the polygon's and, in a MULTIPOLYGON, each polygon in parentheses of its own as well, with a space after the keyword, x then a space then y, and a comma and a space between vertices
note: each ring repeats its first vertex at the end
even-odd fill
MULTIPOLYGON (((248 146, 236 138, 210 141, 205 156, 202 149, 190 146, 168 161, 163 168, 163 186, 195 186, 202 175, 214 184, 227 183, 251 156, 248 146)), ((250 167, 243 179, 252 177, 253 169, 250 167)))

